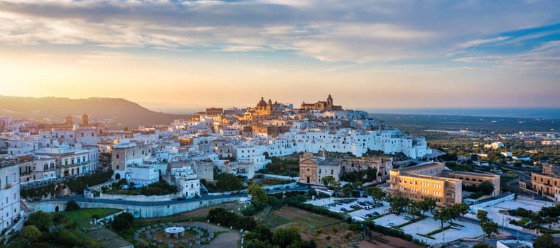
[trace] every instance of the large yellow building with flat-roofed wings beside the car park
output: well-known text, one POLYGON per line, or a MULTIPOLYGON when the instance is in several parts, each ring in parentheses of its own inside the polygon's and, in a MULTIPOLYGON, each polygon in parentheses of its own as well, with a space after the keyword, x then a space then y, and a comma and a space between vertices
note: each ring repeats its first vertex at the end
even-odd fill
POLYGON ((445 164, 428 162, 389 172, 389 193, 414 201, 434 198, 436 205, 448 206, 463 201, 463 186, 478 186, 483 181, 494 185, 492 196, 500 193, 500 176, 465 171, 444 171, 445 164))

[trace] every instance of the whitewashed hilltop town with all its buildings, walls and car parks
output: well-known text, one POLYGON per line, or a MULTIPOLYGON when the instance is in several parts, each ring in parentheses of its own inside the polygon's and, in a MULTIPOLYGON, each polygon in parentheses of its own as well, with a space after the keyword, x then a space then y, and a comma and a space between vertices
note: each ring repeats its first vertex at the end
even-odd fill
MULTIPOLYGON (((247 195, 247 181, 261 178, 282 182, 262 186, 269 194, 317 191, 326 198, 313 196, 309 204, 342 213, 353 221, 371 219, 382 227, 398 227, 421 244, 461 244, 463 238, 485 237, 482 224, 477 222, 477 211, 484 210, 490 222, 499 223, 510 234, 495 243, 497 247, 532 247, 519 238, 519 232, 527 239, 538 233, 512 224, 520 218, 500 209, 519 206, 538 212, 560 202, 560 177, 553 165, 544 166, 543 173, 533 173, 532 182, 519 183, 522 190, 542 195, 549 202, 517 198, 500 190, 500 175, 452 171, 444 162, 435 161, 443 152, 428 147, 424 137, 391 128, 364 111, 343 109, 330 95, 325 101, 303 102, 299 108, 261 98, 254 107, 207 108, 169 125, 124 130, 111 130, 87 114, 80 119, 75 123, 69 115, 61 123, 44 124, 0 117, 3 234, 21 230, 21 220, 33 212, 63 211, 69 199, 82 208, 117 208, 134 218, 175 215, 228 202, 250 204, 254 196, 247 195), (269 174, 266 166, 275 157, 297 161, 298 170, 284 176, 269 174), (345 175, 356 171, 375 173, 362 176, 360 185, 344 181, 345 175), (220 174, 242 179, 241 189, 217 189, 220 174), (106 177, 81 186, 75 183, 96 175, 106 177), (176 190, 154 189, 159 184, 176 190), (491 185, 488 193, 467 198, 471 193, 465 188, 482 184, 491 185), (382 188, 387 198, 362 201, 360 197, 367 193, 364 186, 374 185, 382 188), (357 196, 349 198, 344 193, 345 198, 338 198, 343 196, 340 189, 347 186, 354 186, 357 196), (404 211, 395 209, 396 205, 389 203, 392 197, 408 199, 409 204, 430 199, 438 210, 422 210, 423 219, 416 220, 416 213, 404 210, 413 208, 411 205, 402 206, 404 211), (438 211, 451 209, 456 203, 469 205, 461 215, 463 220, 440 230, 438 211), (517 240, 512 241, 514 236, 517 240)), ((140 242, 145 235, 142 232, 135 232, 135 241, 140 242)), ((119 240, 115 247, 133 245, 119 240)), ((210 239, 203 242, 207 241, 210 243, 210 239)))

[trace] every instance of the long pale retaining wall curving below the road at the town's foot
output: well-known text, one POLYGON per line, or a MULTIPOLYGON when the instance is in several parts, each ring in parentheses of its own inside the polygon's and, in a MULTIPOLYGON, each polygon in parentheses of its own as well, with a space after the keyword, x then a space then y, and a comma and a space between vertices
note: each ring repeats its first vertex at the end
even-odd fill
MULTIPOLYGON (((230 203, 232 201, 239 201, 240 196, 232 196, 227 198, 200 200, 200 201, 182 201, 180 203, 173 203, 169 205, 128 205, 126 203, 95 203, 95 202, 81 202, 78 201, 80 208, 117 208, 126 210, 131 213, 135 218, 156 218, 169 215, 176 215, 178 213, 195 210, 198 208, 205 208, 212 205, 222 203, 230 203)), ((39 201, 30 203, 36 211, 42 210, 44 212, 55 212, 58 206, 59 210, 64 210, 66 203, 57 201, 39 201)))

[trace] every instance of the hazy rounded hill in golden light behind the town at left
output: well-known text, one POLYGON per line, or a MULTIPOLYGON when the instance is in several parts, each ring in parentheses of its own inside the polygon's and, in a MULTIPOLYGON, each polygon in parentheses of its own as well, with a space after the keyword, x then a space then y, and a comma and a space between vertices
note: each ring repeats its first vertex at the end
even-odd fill
POLYGON ((67 115, 72 115, 74 122, 80 123, 80 116, 84 113, 90 115, 90 120, 101 120, 109 128, 167 125, 174 119, 187 117, 150 111, 122 98, 0 96, 0 115, 25 118, 37 123, 63 123, 67 115))

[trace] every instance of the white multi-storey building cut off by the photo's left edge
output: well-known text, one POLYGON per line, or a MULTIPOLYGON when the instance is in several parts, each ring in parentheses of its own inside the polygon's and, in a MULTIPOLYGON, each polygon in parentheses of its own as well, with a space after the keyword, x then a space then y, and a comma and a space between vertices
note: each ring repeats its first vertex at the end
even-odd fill
POLYGON ((19 167, 15 159, 0 160, 0 230, 14 225, 20 218, 19 167))

